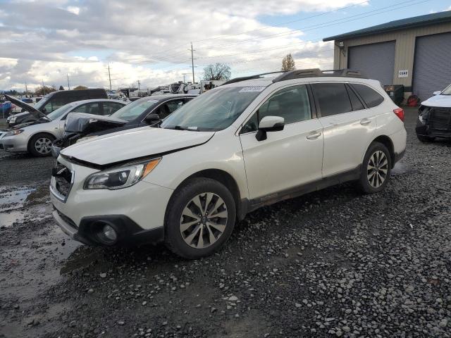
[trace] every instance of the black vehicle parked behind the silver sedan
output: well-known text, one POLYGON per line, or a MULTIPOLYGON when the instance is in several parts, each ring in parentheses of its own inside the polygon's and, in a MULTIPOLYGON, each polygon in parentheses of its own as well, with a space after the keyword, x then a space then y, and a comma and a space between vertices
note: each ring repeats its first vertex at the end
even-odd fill
MULTIPOLYGON (((13 96, 6 94, 5 96, 17 106, 20 106, 18 102, 23 102, 13 96)), ((44 115, 47 115, 65 104, 70 104, 70 102, 89 99, 108 99, 108 96, 106 95, 105 89, 58 90, 57 92, 51 92, 44 96, 33 107, 38 111, 41 111, 44 115)), ((8 127, 36 120, 35 115, 30 114, 29 107, 30 106, 25 106, 22 109, 23 113, 11 115, 7 118, 6 123, 8 123, 8 127)))

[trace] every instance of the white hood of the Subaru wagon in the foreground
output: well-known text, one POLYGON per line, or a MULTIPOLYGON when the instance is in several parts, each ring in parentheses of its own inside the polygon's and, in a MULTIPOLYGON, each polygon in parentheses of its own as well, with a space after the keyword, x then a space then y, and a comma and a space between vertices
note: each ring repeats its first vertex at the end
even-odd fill
POLYGON ((66 158, 104 166, 204 144, 214 132, 140 127, 87 139, 61 151, 66 158))

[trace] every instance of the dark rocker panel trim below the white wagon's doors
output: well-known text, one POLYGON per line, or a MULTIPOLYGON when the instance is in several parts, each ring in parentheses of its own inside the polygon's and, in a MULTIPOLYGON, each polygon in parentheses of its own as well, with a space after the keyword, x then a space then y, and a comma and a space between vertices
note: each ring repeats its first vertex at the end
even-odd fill
POLYGON ((314 192, 316 190, 321 190, 335 184, 341 184, 348 181, 358 180, 361 173, 361 165, 356 168, 340 173, 337 175, 332 175, 329 177, 321 178, 314 182, 309 182, 307 184, 299 185, 298 187, 283 190, 281 192, 276 192, 273 194, 268 194, 266 196, 258 197, 257 199, 251 199, 249 202, 242 201, 242 212, 249 213, 251 211, 260 208, 261 206, 268 206, 285 199, 292 199, 297 196, 302 196, 308 194, 309 192, 314 192))

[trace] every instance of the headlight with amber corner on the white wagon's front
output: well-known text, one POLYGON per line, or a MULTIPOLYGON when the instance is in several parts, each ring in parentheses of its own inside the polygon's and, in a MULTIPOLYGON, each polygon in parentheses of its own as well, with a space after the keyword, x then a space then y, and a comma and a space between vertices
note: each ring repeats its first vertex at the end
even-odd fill
POLYGON ((135 163, 89 175, 85 180, 84 189, 114 190, 130 187, 146 177, 160 161, 161 158, 154 158, 151 161, 135 163))

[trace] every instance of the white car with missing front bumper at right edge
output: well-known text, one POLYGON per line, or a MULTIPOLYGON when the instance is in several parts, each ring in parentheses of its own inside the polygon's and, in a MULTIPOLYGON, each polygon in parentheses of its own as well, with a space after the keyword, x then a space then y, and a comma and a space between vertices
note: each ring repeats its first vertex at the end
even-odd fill
POLYGON ((416 137, 421 142, 433 142, 436 137, 451 139, 451 84, 421 102, 416 137))

